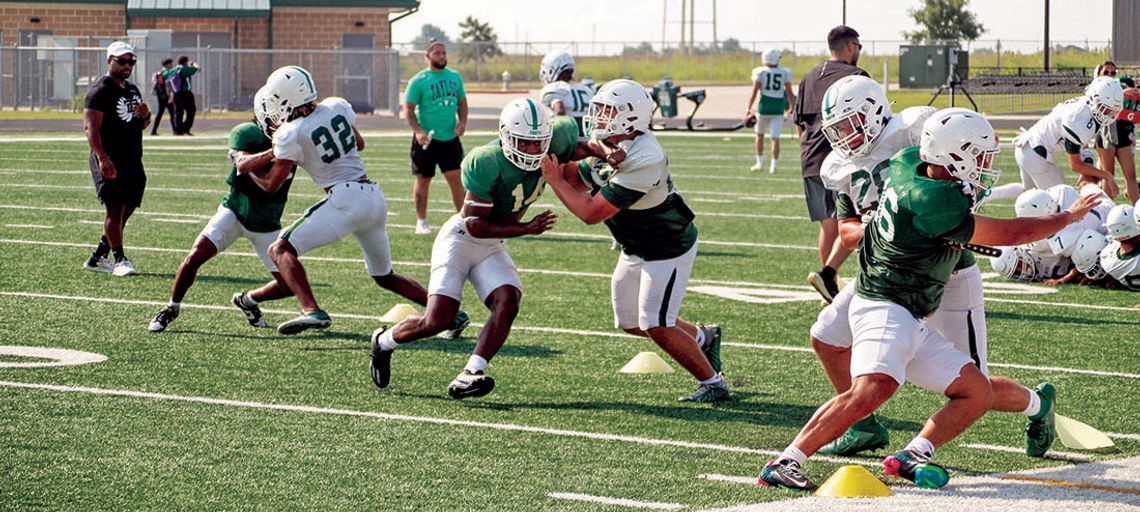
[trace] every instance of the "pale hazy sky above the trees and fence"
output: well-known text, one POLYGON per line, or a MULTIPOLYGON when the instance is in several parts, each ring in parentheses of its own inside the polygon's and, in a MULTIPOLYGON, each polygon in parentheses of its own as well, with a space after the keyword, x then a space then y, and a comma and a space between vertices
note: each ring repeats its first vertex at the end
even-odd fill
MULTIPOLYGON (((711 23, 707 22, 712 17, 714 0, 695 1, 694 39, 710 41, 711 23)), ((717 0, 716 3, 718 40, 822 41, 828 30, 840 23, 842 0, 717 0)), ((902 31, 914 30, 906 10, 921 3, 921 0, 847 0, 847 24, 864 41, 897 41, 902 31)), ((442 27, 457 40, 459 22, 472 15, 489 22, 500 42, 659 43, 666 6, 670 22, 667 39, 676 41, 681 0, 421 0, 418 13, 392 25, 392 41, 410 42, 425 23, 442 27), (565 22, 560 23, 559 18, 565 22)), ((980 39, 1001 39, 1011 49, 1040 47, 1044 0, 974 0, 968 9, 986 27, 980 39)), ((1112 38, 1112 0, 1051 0, 1051 10, 1050 36, 1054 42, 1089 40, 1105 46, 1112 38)))

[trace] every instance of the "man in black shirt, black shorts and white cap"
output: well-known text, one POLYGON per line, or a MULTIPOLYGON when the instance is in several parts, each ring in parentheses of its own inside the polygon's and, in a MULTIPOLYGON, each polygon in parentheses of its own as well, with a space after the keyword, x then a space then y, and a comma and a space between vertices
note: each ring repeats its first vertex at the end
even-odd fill
POLYGON ((103 237, 83 268, 115 276, 138 274, 123 255, 123 227, 142 203, 142 131, 150 124, 150 109, 133 83, 135 47, 113 42, 107 47, 107 74, 91 84, 83 103, 83 131, 91 146, 89 157, 95 193, 106 209, 103 237), (114 255, 114 261, 107 253, 114 255))

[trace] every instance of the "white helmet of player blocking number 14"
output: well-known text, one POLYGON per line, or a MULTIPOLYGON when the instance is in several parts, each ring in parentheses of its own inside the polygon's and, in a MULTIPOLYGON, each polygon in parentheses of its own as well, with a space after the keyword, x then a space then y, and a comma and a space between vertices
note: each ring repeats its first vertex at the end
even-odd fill
POLYGON ((586 133, 595 140, 616 135, 649 131, 653 115, 653 99, 641 83, 633 80, 611 80, 589 100, 583 121, 586 133))

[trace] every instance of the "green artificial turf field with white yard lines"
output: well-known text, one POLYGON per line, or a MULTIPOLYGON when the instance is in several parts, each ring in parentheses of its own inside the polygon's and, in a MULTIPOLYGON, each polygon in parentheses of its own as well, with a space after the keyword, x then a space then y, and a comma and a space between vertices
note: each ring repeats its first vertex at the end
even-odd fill
MULTIPOLYGON (((510 243, 524 298, 488 368, 498 387, 456 401, 445 390, 477 326, 462 340, 401 347, 392 385, 372 384, 368 334, 400 298, 372 284, 351 238, 304 259, 334 319, 326 331, 286 338, 246 324, 229 298, 269 276, 239 241, 203 267, 168 332, 148 333, 178 263, 227 190, 223 133, 146 139, 146 197, 127 229, 127 255, 141 275, 124 278, 80 269, 103 219, 87 144, 78 133, 0 139, 0 344, 106 360, 10 367, 47 359, 0 349, 0 509, 709 509, 799 496, 741 483, 755 481, 833 395, 808 350, 820 301, 804 277, 819 267, 817 230, 790 140, 780 172, 768 174, 748 171, 750 136, 661 137, 701 239, 681 312, 724 326, 734 398, 693 405, 676 401, 695 382, 675 363, 673 374, 618 373, 637 352, 658 349, 613 328, 617 253, 608 233, 578 221, 551 192, 531 213, 553 209, 554 230, 510 243), (739 478, 699 478, 709 474, 739 478)), ((464 143, 470 149, 489 139, 464 143)), ((412 233, 407 136, 366 140, 368 176, 389 202, 396 269, 426 284, 432 237, 412 233)), ((1000 164, 1016 179, 1009 152, 1000 164)), ((323 195, 304 171, 292 190, 286 221, 323 195)), ((438 227, 450 214, 442 180, 431 197, 438 227)), ((1012 209, 999 203, 984 213, 1012 209)), ((856 268, 852 259, 840 274, 852 278, 856 268)), ((1031 387, 1053 382, 1058 411, 1119 434, 1117 446, 1073 453, 1057 444, 1050 458, 1031 460, 1017 449, 1024 418, 990 414, 936 461, 962 479, 1140 455, 1140 295, 986 283, 992 373, 1031 387)), ((465 295, 474 295, 470 286, 465 295)), ((296 314, 292 299, 262 308, 270 323, 296 314)), ((486 318, 481 304, 465 308, 477 323, 486 318)), ((903 387, 880 409, 891 447, 905 445, 943 400, 903 387)), ((820 482, 855 461, 879 474, 885 454, 816 457, 806 472, 820 482)), ((1028 487, 1031 502, 1035 488, 1056 490, 1028 487)), ((1114 506, 1140 503, 1137 494, 1102 495, 1114 506)))

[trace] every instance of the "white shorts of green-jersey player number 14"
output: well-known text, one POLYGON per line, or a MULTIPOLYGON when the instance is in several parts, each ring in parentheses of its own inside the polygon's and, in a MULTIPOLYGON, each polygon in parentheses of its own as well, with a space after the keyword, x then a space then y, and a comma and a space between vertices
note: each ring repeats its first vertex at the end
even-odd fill
POLYGON ((502 286, 514 286, 522 292, 519 268, 506 252, 506 241, 471 236, 464 219, 455 214, 439 228, 431 247, 427 294, 463 302, 463 283, 467 279, 483 303, 502 286))

